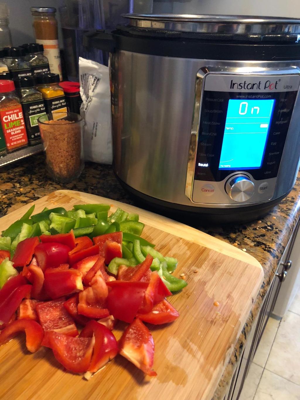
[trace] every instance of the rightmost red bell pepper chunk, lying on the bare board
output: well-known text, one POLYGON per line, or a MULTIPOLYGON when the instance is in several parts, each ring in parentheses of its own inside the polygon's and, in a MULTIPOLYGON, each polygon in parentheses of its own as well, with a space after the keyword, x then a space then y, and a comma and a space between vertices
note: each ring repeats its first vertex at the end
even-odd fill
POLYGON ((179 312, 166 299, 156 304, 148 314, 137 314, 144 322, 159 325, 173 322, 179 317, 179 312))

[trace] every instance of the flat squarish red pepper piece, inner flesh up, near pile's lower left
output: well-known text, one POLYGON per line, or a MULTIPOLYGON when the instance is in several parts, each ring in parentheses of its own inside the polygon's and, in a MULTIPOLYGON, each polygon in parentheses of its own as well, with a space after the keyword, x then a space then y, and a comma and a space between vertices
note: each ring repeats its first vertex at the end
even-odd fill
MULTIPOLYGON (((36 313, 45 332, 55 331, 68 336, 77 336, 74 320, 64 308, 65 299, 40 302, 36 304, 36 313)), ((48 340, 48 338, 47 338, 48 340)), ((43 345, 45 345, 43 343, 43 345)))

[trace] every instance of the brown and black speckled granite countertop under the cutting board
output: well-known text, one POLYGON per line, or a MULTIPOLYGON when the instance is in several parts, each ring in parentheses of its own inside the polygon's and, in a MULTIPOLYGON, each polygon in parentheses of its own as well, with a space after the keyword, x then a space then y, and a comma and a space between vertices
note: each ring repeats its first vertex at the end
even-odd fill
MULTIPOLYGON (((58 189, 79 190, 134 204, 120 186, 111 166, 87 162, 78 180, 69 184, 57 184, 49 178, 45 170, 42 154, 21 160, 0 170, 0 216, 12 212, 46 194, 58 189)), ((236 343, 230 362, 214 394, 214 400, 221 400, 230 383, 236 362, 242 353, 251 326, 262 300, 274 277, 278 262, 300 216, 300 173, 290 194, 261 220, 242 225, 224 225, 204 228, 194 227, 224 240, 254 256, 264 270, 264 282, 253 304, 248 320, 236 343)), ((184 221, 182 221, 184 222, 184 221)))

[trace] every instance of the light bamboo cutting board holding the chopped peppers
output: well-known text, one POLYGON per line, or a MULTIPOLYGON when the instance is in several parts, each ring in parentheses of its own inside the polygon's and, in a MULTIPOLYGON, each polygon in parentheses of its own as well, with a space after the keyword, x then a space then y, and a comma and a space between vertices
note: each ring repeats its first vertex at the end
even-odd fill
MULTIPOLYGON (((34 213, 45 206, 70 210, 74 204, 104 202, 112 204, 112 211, 121 207, 140 214, 146 224, 142 236, 162 254, 178 258, 175 276, 186 275, 188 286, 168 298, 180 317, 166 326, 150 326, 157 377, 145 377, 117 356, 86 381, 64 372, 48 348, 29 354, 19 337, 0 348, 0 398, 210 399, 262 284, 262 267, 249 254, 194 228, 100 196, 58 190, 34 202, 34 213), (214 306, 215 301, 220 305, 214 306)), ((28 208, 2 217, 0 230, 28 208)), ((124 326, 114 331, 117 339, 124 326)))

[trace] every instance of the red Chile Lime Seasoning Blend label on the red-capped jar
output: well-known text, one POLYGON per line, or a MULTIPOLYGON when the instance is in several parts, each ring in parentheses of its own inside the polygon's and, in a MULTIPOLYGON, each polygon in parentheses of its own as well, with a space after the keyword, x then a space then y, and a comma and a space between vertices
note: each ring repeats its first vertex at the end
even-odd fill
POLYGON ((28 143, 21 106, 0 111, 1 125, 8 150, 28 143))

